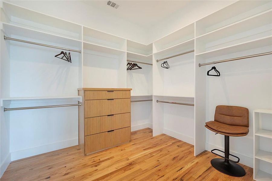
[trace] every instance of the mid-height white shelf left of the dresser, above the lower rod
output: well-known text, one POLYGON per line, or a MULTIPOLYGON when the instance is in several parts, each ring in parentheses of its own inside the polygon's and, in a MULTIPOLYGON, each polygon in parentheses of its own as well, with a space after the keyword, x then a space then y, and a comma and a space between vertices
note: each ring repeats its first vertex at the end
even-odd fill
POLYGON ((3 101, 5 100, 34 100, 34 99, 71 99, 77 98, 79 102, 82 102, 81 96, 41 96, 41 97, 8 97, 1 99, 1 106, 3 106, 3 101))

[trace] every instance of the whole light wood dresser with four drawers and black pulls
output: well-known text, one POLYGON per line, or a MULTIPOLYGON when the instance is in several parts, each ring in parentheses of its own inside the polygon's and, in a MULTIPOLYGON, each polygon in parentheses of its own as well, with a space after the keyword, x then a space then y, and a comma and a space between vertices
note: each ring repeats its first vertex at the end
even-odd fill
POLYGON ((78 89, 78 142, 84 155, 130 141, 130 90, 78 89))

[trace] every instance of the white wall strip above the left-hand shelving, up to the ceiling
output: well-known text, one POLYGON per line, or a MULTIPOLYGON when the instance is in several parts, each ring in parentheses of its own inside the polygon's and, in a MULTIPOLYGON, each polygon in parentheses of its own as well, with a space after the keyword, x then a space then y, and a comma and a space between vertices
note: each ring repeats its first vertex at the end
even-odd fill
POLYGON ((82 24, 106 33, 137 42, 146 42, 147 35, 142 27, 129 21, 86 5, 81 1, 10 1, 50 16, 82 24))

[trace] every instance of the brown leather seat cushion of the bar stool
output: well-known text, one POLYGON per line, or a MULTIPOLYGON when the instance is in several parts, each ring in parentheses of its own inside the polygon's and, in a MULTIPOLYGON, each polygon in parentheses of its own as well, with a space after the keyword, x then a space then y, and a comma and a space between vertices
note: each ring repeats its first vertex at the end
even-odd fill
POLYGON ((247 135, 249 132, 248 127, 245 126, 233 126, 233 125, 227 125, 221 122, 217 121, 209 121, 206 122, 205 125, 206 128, 210 129, 211 131, 220 133, 222 135, 247 135), (224 134, 226 133, 226 134, 224 134))

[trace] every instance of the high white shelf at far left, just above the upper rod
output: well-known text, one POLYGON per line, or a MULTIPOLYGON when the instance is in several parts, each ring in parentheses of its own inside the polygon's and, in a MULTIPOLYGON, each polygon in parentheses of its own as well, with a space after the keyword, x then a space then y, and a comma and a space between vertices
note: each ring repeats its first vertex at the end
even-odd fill
MULTIPOLYGON (((46 42, 52 42, 60 45, 66 45, 69 47, 77 47, 78 50, 81 49, 81 41, 69 37, 55 35, 53 33, 47 33, 39 30, 33 30, 27 27, 22 27, 9 23, 1 23, 1 29, 9 37, 22 36, 31 39, 42 40, 46 42)), ((2 38, 2 37, 1 37, 2 38)), ((39 42, 37 42, 39 43, 39 42)), ((68 48, 68 47, 64 47, 68 48)))

